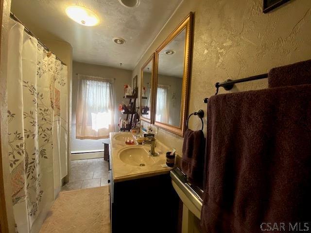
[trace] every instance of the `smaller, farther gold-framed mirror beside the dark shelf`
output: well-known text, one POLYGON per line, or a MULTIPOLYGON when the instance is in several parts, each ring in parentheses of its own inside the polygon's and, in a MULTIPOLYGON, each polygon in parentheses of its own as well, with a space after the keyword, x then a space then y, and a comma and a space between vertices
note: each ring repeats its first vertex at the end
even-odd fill
POLYGON ((154 85, 155 53, 141 67, 140 76, 140 119, 151 123, 153 119, 153 85, 154 85))

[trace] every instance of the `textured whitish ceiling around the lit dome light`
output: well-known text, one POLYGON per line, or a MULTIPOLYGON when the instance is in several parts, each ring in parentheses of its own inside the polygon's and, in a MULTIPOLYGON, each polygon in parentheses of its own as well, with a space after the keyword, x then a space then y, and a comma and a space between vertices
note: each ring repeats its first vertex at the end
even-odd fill
POLYGON ((12 0, 12 12, 34 32, 67 41, 73 60, 133 69, 182 0, 140 0, 127 8, 118 0, 12 0), (85 6, 100 17, 100 24, 86 27, 67 17, 70 5, 85 6), (113 37, 125 39, 117 45, 113 37))

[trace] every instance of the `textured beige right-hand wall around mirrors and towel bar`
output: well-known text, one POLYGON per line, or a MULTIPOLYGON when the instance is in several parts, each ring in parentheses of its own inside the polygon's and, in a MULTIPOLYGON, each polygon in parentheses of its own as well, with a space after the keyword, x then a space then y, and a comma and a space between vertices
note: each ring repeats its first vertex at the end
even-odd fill
MULTIPOLYGON (((214 95, 216 82, 311 59, 310 0, 292 0, 268 14, 262 13, 262 0, 184 0, 133 70, 138 83, 140 67, 190 11, 194 13, 194 43, 189 113, 207 112, 203 99, 214 95)), ((237 84, 231 91, 266 87, 267 80, 253 81, 237 84)), ((206 120, 205 115, 205 126, 206 120)), ((190 128, 199 129, 200 124, 194 118, 190 128)), ((182 137, 161 129, 156 137, 181 153, 182 137)))

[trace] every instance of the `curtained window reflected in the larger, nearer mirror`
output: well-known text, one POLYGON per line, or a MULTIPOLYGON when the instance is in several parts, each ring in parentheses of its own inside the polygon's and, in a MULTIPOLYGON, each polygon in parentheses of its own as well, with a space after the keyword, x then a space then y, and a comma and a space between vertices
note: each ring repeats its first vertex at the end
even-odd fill
POLYGON ((155 120, 166 124, 170 119, 169 93, 169 86, 157 85, 155 120))

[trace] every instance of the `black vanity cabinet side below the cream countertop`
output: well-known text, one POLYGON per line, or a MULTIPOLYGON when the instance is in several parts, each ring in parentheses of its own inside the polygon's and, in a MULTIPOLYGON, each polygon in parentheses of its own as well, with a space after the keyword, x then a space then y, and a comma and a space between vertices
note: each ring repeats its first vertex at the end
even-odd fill
POLYGON ((177 232, 179 197, 169 174, 118 183, 111 179, 110 201, 112 233, 177 232))

